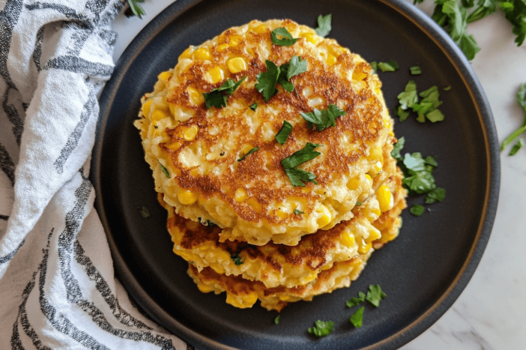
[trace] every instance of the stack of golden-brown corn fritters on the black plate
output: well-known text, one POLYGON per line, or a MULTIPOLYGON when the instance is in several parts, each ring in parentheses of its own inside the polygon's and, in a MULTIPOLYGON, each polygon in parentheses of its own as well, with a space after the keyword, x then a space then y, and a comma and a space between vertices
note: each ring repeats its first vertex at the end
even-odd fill
POLYGON ((189 47, 158 78, 135 126, 174 252, 199 290, 280 311, 348 287, 398 235, 407 193, 390 154, 392 120, 360 56, 291 20, 252 21, 189 47), (273 44, 277 28, 298 40, 273 44), (307 71, 290 78, 292 92, 276 84, 266 100, 256 86, 266 60, 280 66, 294 56, 307 71), (207 108, 203 93, 228 79, 242 82, 224 94, 226 106, 207 108), (322 131, 301 115, 329 105, 346 114, 322 131), (292 131, 281 145, 284 120, 292 131), (316 178, 294 186, 281 161, 307 143, 320 154, 298 169, 316 178))

